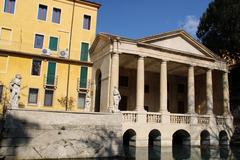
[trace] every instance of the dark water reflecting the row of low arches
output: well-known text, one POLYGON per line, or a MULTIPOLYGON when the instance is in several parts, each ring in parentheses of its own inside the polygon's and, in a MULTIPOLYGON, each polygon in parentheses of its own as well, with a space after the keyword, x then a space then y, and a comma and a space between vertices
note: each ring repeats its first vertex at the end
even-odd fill
POLYGON ((174 145, 173 147, 124 147, 125 157, 132 160, 182 160, 182 159, 240 159, 240 149, 223 147, 190 147, 174 145))

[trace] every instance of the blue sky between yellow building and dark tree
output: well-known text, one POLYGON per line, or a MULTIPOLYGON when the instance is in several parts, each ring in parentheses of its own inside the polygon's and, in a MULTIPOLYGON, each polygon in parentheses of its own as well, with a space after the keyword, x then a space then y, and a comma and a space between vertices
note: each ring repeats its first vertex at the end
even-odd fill
POLYGON ((212 0, 93 0, 102 4, 97 32, 140 38, 184 28, 193 36, 212 0))

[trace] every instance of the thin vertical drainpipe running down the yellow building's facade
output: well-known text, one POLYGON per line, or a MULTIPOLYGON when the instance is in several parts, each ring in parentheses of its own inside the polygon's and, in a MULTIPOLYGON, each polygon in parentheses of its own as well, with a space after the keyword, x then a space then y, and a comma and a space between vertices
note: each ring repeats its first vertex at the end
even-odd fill
MULTIPOLYGON (((70 59, 70 55, 71 55, 71 46, 72 46, 72 31, 73 31, 73 20, 74 20, 74 11, 75 11, 75 3, 76 1, 73 0, 73 9, 72 9, 72 20, 71 20, 71 30, 70 30, 70 39, 69 39, 69 46, 68 46, 68 50, 69 50, 69 54, 68 54, 68 59, 70 59)), ((69 79, 70 79, 70 63, 68 64, 68 72, 67 72, 67 92, 66 92, 66 106, 65 106, 65 110, 68 110, 68 94, 69 94, 69 79)))

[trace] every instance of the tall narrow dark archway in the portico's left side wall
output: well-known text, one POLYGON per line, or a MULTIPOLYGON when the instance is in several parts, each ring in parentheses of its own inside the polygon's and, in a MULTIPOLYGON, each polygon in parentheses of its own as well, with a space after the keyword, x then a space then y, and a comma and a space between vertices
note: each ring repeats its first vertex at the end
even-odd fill
POLYGON ((95 107, 94 112, 100 112, 100 106, 101 106, 101 79, 102 79, 102 72, 100 69, 96 71, 95 74, 95 84, 96 84, 96 90, 95 90, 95 107))

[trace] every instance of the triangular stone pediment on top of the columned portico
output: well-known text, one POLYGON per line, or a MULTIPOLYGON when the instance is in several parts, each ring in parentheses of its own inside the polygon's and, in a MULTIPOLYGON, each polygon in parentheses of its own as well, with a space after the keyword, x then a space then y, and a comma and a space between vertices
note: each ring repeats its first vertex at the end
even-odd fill
POLYGON ((183 30, 145 37, 139 39, 139 42, 186 53, 192 56, 216 59, 216 55, 213 52, 198 41, 194 40, 183 30))

